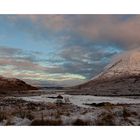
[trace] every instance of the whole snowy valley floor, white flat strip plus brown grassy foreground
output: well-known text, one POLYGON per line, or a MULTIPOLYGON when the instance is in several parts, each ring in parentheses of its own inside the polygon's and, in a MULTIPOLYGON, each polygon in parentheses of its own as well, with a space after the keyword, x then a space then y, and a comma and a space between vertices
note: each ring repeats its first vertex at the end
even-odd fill
POLYGON ((0 125, 140 125, 139 99, 63 94, 58 104, 52 96, 0 98, 0 125))

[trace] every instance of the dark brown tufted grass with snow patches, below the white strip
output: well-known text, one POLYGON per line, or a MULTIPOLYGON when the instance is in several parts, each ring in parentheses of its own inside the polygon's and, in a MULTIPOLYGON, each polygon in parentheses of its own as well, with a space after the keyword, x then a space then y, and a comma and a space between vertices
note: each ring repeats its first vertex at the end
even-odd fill
POLYGON ((31 102, 15 97, 0 98, 0 125, 84 126, 140 125, 140 104, 74 104, 31 102))

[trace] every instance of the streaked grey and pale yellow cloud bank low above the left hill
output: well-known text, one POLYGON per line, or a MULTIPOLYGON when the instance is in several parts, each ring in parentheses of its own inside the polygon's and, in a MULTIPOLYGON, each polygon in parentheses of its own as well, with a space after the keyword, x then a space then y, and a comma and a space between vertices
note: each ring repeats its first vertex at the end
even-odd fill
MULTIPOLYGON (((48 67, 39 64, 34 56, 28 59, 28 55, 40 55, 39 52, 26 52, 22 49, 0 47, 0 74, 6 77, 16 77, 27 82, 46 81, 46 84, 54 85, 73 85, 85 81, 86 77, 80 74, 72 74, 65 70, 65 66, 50 65, 48 67)), ((44 60, 45 61, 45 60, 44 60)), ((44 83, 44 82, 43 82, 44 83)))

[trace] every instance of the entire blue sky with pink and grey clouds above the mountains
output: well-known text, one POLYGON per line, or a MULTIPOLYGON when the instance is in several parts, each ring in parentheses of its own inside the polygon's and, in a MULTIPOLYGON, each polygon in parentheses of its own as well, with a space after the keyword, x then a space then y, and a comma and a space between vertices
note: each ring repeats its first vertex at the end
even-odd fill
POLYGON ((0 75, 33 85, 84 83, 140 46, 140 15, 0 15, 0 75))

